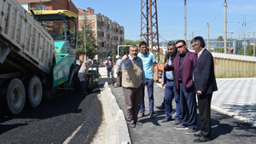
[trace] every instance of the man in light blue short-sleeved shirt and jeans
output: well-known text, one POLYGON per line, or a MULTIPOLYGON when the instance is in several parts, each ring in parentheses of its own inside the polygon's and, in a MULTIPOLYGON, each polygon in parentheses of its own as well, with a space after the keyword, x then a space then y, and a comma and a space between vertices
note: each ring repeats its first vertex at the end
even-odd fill
MULTIPOLYGON (((149 101, 149 118, 154 118, 154 80, 158 81, 158 66, 156 64, 154 55, 148 51, 148 44, 146 42, 140 42, 139 48, 141 52, 138 54, 143 60, 143 70, 145 72, 146 86, 148 89, 148 101, 149 101), (153 66, 155 67, 155 75, 153 72, 153 66)), ((144 102, 145 88, 143 88, 143 101, 138 118, 143 118, 145 113, 144 102)))

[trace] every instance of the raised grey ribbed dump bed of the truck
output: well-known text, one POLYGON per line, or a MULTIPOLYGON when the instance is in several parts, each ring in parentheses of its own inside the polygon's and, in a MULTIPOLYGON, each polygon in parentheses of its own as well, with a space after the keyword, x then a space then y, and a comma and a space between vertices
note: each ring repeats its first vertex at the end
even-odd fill
POLYGON ((49 74, 54 40, 16 0, 0 0, 0 76, 10 72, 49 74))

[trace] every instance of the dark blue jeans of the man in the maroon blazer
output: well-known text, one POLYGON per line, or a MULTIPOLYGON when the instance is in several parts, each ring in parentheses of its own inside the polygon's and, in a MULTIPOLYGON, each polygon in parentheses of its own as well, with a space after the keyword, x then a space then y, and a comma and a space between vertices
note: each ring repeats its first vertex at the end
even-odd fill
POLYGON ((179 84, 180 101, 183 111, 183 125, 188 126, 189 129, 196 129, 196 101, 195 90, 185 89, 183 84, 179 84))

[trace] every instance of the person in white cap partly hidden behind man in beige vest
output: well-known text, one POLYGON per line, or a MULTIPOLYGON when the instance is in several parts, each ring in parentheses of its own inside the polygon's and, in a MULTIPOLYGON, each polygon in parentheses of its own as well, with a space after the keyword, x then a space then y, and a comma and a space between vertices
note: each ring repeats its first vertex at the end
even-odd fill
POLYGON ((115 59, 116 59, 116 64, 115 64, 116 72, 115 73, 117 76, 116 76, 116 84, 114 84, 113 87, 117 88, 117 87, 120 87, 122 84, 122 66, 121 66, 122 59, 120 59, 119 55, 116 55, 115 59))

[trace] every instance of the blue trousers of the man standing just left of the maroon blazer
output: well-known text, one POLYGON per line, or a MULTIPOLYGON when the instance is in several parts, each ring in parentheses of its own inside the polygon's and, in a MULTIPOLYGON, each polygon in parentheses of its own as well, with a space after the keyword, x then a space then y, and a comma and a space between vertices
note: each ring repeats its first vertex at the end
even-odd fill
POLYGON ((176 117, 175 119, 182 119, 182 109, 180 105, 180 98, 177 93, 174 82, 166 81, 165 89, 165 107, 166 107, 166 118, 172 118, 172 100, 175 98, 176 102, 176 117))

